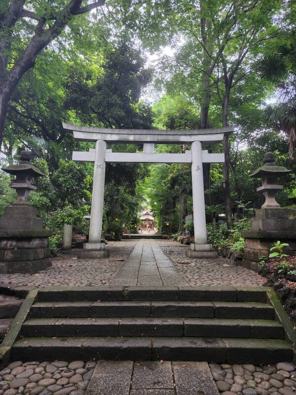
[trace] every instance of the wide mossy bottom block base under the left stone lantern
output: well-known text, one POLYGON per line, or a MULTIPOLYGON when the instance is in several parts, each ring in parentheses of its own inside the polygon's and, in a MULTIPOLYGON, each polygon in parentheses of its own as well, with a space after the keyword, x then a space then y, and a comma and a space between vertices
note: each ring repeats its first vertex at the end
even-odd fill
POLYGON ((0 274, 35 274, 51 266, 46 229, 0 230, 0 274))

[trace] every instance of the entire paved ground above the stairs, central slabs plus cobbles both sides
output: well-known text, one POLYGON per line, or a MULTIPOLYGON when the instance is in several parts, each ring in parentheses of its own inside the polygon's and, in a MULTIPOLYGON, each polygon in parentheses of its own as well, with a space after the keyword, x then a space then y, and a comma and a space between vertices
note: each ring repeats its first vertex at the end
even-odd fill
POLYGON ((35 275, 1 275, 8 286, 58 285, 237 285, 259 286, 257 273, 228 259, 192 259, 187 245, 164 239, 124 239, 108 244, 110 258, 77 259, 77 250, 59 254, 52 267, 35 275), (126 262, 124 260, 127 258, 126 262))

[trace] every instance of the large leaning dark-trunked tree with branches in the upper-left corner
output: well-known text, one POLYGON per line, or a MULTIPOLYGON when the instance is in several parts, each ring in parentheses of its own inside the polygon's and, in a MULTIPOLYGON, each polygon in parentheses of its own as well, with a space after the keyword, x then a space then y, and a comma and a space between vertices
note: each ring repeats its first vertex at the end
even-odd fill
POLYGON ((75 15, 84 14, 104 5, 99 0, 82 5, 82 0, 2 1, 0 5, 0 146, 11 95, 25 73, 34 67, 40 52, 63 32, 75 15), (26 40, 21 36, 26 33, 26 40), (20 44, 16 46, 16 40, 20 44))

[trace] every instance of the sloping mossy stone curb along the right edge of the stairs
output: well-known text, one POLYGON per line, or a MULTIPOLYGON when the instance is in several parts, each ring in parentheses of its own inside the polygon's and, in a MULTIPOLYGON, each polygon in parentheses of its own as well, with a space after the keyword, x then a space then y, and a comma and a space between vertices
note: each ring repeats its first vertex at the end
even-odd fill
POLYGON ((296 331, 281 301, 273 289, 267 290, 267 302, 274 308, 275 318, 283 325, 285 340, 293 347, 293 362, 296 362, 296 331))

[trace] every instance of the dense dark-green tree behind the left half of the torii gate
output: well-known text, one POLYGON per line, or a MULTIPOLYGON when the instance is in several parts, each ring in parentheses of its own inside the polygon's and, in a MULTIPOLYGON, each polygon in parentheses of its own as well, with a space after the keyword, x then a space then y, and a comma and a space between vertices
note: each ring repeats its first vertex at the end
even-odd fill
MULTIPOLYGON (((149 129, 152 124, 150 106, 140 100, 151 72, 145 67, 145 58, 129 42, 106 48, 99 73, 92 67, 77 67, 69 71, 65 86, 65 106, 75 112, 87 125, 108 128, 149 129)), ((111 144, 113 152, 136 152, 135 144, 111 144)), ((148 174, 148 166, 141 163, 107 163, 105 206, 108 223, 130 225, 139 207, 134 198, 137 183, 148 174)), ((115 226, 115 225, 114 225, 115 226)))

